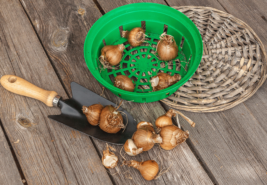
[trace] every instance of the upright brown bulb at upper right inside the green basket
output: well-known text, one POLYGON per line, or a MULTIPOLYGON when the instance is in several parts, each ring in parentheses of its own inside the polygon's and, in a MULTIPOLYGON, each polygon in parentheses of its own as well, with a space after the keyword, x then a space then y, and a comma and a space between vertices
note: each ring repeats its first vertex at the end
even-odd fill
POLYGON ((177 57, 178 46, 174 38, 164 32, 161 34, 160 40, 157 43, 156 51, 160 60, 168 61, 177 57))

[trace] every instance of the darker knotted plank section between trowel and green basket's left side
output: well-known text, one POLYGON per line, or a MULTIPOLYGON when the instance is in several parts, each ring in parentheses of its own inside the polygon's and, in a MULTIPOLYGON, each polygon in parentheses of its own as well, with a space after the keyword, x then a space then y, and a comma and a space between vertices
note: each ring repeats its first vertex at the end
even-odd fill
MULTIPOLYGON (((84 62, 83 45, 90 27, 102 14, 92 0, 27 0, 22 4, 65 90, 71 96, 71 81, 84 85, 83 82, 91 77, 84 62), (81 71, 86 71, 85 76, 77 75, 81 71)), ((102 88, 98 92, 101 91, 102 88)))

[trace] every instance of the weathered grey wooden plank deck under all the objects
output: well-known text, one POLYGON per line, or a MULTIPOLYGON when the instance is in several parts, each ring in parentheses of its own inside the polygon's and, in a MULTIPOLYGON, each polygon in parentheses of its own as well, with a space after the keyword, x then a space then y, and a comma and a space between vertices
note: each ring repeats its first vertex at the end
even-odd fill
MULTIPOLYGON (((232 14, 258 34, 267 49, 267 4, 263 0, 1 0, 0 77, 16 75, 63 99, 70 83, 102 94, 83 54, 84 39, 103 14, 129 3, 152 2, 170 7, 203 6, 232 14)), ((151 150, 127 159, 155 159, 168 172, 146 181, 138 170, 122 164, 121 145, 112 145, 118 169, 103 167, 106 143, 47 118, 60 114, 39 100, 13 94, 0 86, 0 185, 180 184, 267 185, 267 84, 245 102, 222 112, 181 112, 189 139, 165 152, 151 150)), ((105 89, 103 97, 122 99, 105 89)), ((155 122, 166 112, 157 102, 123 104, 137 122, 155 122), (135 109, 133 109, 135 108, 135 109)))

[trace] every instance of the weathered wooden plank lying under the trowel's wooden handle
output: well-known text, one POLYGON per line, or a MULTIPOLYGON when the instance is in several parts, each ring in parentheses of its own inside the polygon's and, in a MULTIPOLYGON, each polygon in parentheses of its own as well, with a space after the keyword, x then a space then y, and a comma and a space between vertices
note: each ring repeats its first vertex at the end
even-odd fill
MULTIPOLYGON (((19 1, 1 1, 0 12, 0 76, 18 75, 67 98, 19 1)), ((41 26, 45 24, 40 29, 41 26)), ((9 141, 19 139, 12 146, 27 184, 112 184, 106 171, 98 167, 101 160, 90 137, 47 118, 60 114, 58 108, 15 95, 3 87, 0 94, 1 121, 9 141)), ((14 173, 7 178, 13 178, 14 173)))

